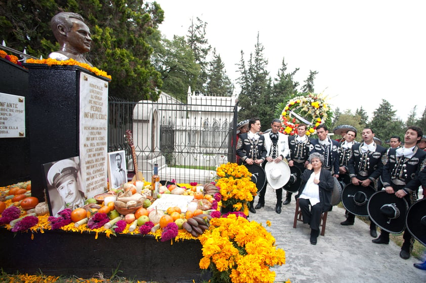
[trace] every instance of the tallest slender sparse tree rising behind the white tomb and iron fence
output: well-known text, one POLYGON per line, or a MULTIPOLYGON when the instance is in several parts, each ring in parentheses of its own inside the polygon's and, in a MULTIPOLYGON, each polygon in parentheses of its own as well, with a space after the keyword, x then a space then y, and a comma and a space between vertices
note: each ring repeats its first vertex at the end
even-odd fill
POLYGON ((200 73, 197 78, 195 92, 207 93, 206 84, 208 80, 207 68, 208 61, 207 55, 211 49, 208 44, 207 38, 205 37, 206 22, 203 22, 200 18, 191 19, 191 25, 188 28, 187 42, 189 47, 194 52, 195 62, 200 66, 200 73))

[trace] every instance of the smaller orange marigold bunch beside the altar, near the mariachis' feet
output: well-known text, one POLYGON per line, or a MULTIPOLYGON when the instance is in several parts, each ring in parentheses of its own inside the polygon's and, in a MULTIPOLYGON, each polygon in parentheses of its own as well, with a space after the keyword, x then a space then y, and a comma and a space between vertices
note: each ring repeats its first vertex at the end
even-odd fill
POLYGON ((248 215, 247 203, 257 194, 256 185, 251 182, 247 168, 235 163, 222 164, 216 170, 220 177, 216 186, 222 195, 222 208, 226 211, 241 211, 248 215))

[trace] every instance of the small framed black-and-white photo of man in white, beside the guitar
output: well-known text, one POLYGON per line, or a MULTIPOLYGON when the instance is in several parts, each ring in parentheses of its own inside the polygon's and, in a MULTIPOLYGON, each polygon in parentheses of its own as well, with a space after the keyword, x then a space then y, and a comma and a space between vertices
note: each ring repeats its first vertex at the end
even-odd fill
POLYGON ((124 150, 108 152, 108 180, 112 189, 127 182, 127 167, 124 150))

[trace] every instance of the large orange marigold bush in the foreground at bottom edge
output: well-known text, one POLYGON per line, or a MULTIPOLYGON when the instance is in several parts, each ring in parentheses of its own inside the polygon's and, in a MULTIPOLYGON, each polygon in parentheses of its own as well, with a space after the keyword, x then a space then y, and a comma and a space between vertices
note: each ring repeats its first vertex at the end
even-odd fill
POLYGON ((200 235, 201 269, 210 269, 212 283, 274 282, 270 268, 285 263, 285 252, 261 224, 230 214, 212 218, 200 235))

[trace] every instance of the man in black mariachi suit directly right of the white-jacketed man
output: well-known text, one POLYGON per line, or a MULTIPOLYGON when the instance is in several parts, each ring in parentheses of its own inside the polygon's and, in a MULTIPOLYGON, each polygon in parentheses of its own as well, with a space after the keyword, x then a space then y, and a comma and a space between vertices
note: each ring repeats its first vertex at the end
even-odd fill
MULTIPOLYGON (((288 166, 290 166, 290 169, 293 169, 293 167, 299 169, 301 174, 308 164, 309 146, 311 145, 311 140, 306 135, 307 128, 306 124, 299 124, 297 126, 297 135, 288 138, 288 147, 290 149, 290 156, 287 156, 288 166)), ((284 206, 290 203, 291 195, 292 193, 287 191, 283 203, 284 206)))

